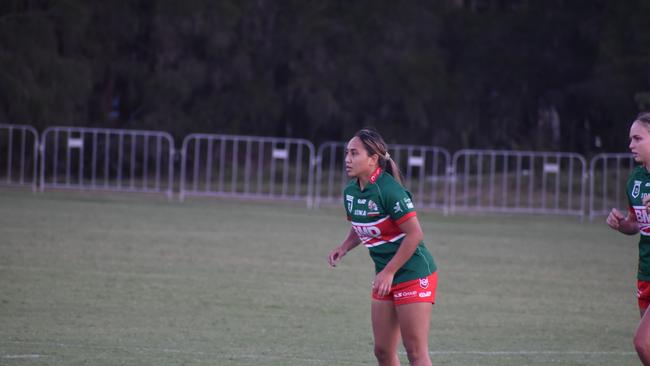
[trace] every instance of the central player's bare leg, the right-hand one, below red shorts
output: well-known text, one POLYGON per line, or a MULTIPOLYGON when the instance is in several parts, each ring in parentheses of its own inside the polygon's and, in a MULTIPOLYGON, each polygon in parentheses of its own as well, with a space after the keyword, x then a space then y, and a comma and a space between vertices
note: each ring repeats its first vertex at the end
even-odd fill
POLYGON ((411 366, 431 366, 429 322, 431 303, 416 302, 397 307, 402 340, 411 366))

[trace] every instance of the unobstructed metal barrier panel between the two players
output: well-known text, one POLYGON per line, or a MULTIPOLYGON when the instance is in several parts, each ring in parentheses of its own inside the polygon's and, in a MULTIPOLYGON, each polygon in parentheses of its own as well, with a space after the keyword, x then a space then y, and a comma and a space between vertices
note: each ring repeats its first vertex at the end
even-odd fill
POLYGON ((588 176, 579 154, 460 150, 452 171, 451 212, 585 214, 588 176))

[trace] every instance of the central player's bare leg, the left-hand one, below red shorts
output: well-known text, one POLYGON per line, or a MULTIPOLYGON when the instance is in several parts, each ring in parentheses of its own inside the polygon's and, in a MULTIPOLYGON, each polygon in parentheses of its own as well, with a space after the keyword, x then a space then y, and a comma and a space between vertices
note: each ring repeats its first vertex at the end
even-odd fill
POLYGON ((375 337, 375 357, 379 366, 399 366, 397 343, 399 322, 392 301, 372 300, 372 333, 375 337))

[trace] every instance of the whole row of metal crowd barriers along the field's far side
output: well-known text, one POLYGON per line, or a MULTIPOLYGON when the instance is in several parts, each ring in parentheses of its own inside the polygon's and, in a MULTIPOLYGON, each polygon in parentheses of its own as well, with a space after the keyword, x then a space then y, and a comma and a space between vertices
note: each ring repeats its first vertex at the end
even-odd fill
MULTIPOLYGON (((326 142, 314 154, 313 144, 302 139, 192 134, 183 140, 179 197, 339 204, 349 181, 345 145, 326 142)), ((585 159, 567 152, 468 149, 450 157, 445 149, 419 145, 391 145, 389 151, 416 204, 445 213, 607 215, 627 206, 625 181, 634 168, 629 153, 598 154, 587 174, 585 159)), ((50 127, 39 139, 31 126, 0 124, 0 185, 171 198, 174 157, 174 141, 165 132, 50 127)))

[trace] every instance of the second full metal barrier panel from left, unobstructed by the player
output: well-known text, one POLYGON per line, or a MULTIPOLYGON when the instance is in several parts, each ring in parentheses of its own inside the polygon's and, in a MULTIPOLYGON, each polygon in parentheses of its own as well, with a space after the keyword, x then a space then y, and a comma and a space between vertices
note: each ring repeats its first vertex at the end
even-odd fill
POLYGON ((303 139, 192 134, 183 140, 180 199, 290 199, 311 207, 314 161, 314 146, 303 139))

